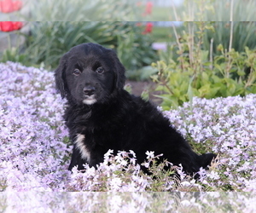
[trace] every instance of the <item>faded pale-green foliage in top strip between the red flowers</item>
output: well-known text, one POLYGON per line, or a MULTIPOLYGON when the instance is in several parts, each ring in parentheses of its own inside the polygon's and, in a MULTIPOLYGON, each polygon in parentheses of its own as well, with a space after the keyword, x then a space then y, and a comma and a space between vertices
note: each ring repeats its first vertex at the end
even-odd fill
POLYGON ((39 21, 137 20, 141 13, 136 3, 126 0, 31 0, 29 6, 29 20, 39 21))

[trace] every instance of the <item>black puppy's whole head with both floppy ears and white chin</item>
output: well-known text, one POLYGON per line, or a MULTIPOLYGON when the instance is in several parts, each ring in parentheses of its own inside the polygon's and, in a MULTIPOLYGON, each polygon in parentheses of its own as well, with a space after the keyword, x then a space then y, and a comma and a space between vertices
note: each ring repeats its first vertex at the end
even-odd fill
POLYGON ((103 103, 125 84, 125 67, 112 49, 82 43, 62 56, 55 70, 61 96, 77 104, 103 103))

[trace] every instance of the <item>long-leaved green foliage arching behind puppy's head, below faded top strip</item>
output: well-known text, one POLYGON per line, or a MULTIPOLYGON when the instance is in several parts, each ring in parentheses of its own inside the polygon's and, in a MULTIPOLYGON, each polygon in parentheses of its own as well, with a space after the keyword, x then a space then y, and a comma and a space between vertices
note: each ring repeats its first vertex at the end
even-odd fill
POLYGON ((54 21, 31 24, 31 33, 26 36, 22 53, 26 55, 26 61, 18 61, 26 66, 44 63, 45 68, 54 69, 61 55, 79 43, 88 42, 116 49, 128 70, 149 65, 156 59, 151 48, 152 38, 143 35, 142 29, 135 23, 54 21))

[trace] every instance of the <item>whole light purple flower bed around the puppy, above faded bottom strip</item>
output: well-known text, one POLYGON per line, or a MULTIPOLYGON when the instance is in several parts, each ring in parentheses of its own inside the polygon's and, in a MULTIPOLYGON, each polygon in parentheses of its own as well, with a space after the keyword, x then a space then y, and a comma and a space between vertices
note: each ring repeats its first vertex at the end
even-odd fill
MULTIPOLYGON (((256 191, 256 95, 194 98, 163 112, 197 151, 218 153, 218 162, 200 170, 197 182, 176 167, 180 184, 165 176, 159 187, 132 151, 113 156, 109 150, 97 170, 85 165, 84 173, 74 168, 71 174, 65 101, 56 94, 53 72, 12 62, 0 64, 0 72, 0 191, 256 191)), ((146 167, 155 158, 150 151, 146 167)))

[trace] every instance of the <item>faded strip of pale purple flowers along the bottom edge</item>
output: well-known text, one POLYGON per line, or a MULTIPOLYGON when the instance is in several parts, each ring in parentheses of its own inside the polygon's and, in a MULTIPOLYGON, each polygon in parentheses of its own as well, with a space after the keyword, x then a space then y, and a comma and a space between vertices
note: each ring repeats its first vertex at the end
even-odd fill
POLYGON ((255 212, 252 193, 0 193, 2 212, 255 212))

